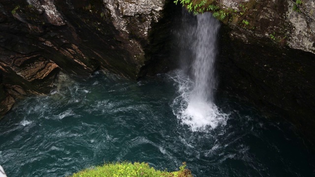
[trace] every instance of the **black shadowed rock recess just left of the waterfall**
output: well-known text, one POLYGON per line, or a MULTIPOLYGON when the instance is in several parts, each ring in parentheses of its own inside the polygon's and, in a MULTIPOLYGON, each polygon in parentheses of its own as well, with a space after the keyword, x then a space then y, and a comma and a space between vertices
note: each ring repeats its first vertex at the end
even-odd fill
POLYGON ((164 17, 150 29, 150 45, 145 48, 145 64, 141 67, 139 79, 143 76, 155 76, 179 68, 178 30, 181 28, 182 8, 172 1, 163 11, 164 17))

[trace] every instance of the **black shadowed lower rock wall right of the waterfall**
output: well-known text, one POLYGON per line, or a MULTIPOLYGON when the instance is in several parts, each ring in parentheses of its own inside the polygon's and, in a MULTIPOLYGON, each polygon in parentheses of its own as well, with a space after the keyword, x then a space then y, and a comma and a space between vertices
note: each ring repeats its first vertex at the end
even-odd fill
POLYGON ((314 143, 315 54, 267 37, 244 43, 232 38, 230 30, 221 27, 220 89, 253 103, 270 118, 281 115, 314 143))

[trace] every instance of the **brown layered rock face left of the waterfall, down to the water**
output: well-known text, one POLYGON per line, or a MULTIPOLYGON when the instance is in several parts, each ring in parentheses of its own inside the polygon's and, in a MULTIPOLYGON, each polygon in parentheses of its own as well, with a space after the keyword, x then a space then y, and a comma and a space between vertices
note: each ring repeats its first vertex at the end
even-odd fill
POLYGON ((15 98, 49 93, 60 72, 89 76, 103 69, 140 77, 164 5, 165 0, 1 0, 0 115, 15 98))

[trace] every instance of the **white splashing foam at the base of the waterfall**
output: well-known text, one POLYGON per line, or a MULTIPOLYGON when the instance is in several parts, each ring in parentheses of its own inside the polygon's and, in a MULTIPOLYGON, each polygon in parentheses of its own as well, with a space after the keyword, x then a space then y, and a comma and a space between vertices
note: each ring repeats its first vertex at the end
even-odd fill
POLYGON ((178 85, 178 94, 173 103, 173 114, 182 124, 195 131, 209 131, 218 126, 226 125, 228 115, 211 101, 193 97, 193 82, 182 70, 176 70, 170 77, 178 85), (175 75, 175 76, 174 76, 175 75))

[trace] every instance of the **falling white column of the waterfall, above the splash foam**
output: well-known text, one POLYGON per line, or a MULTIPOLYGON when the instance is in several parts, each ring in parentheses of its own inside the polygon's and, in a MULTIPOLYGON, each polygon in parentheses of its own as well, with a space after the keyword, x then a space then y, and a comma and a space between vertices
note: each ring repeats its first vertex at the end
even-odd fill
POLYGON ((213 90, 216 85, 214 63, 217 55, 217 37, 220 23, 211 14, 197 16, 196 37, 193 41, 195 56, 192 69, 194 87, 190 100, 193 102, 213 101, 213 90))

